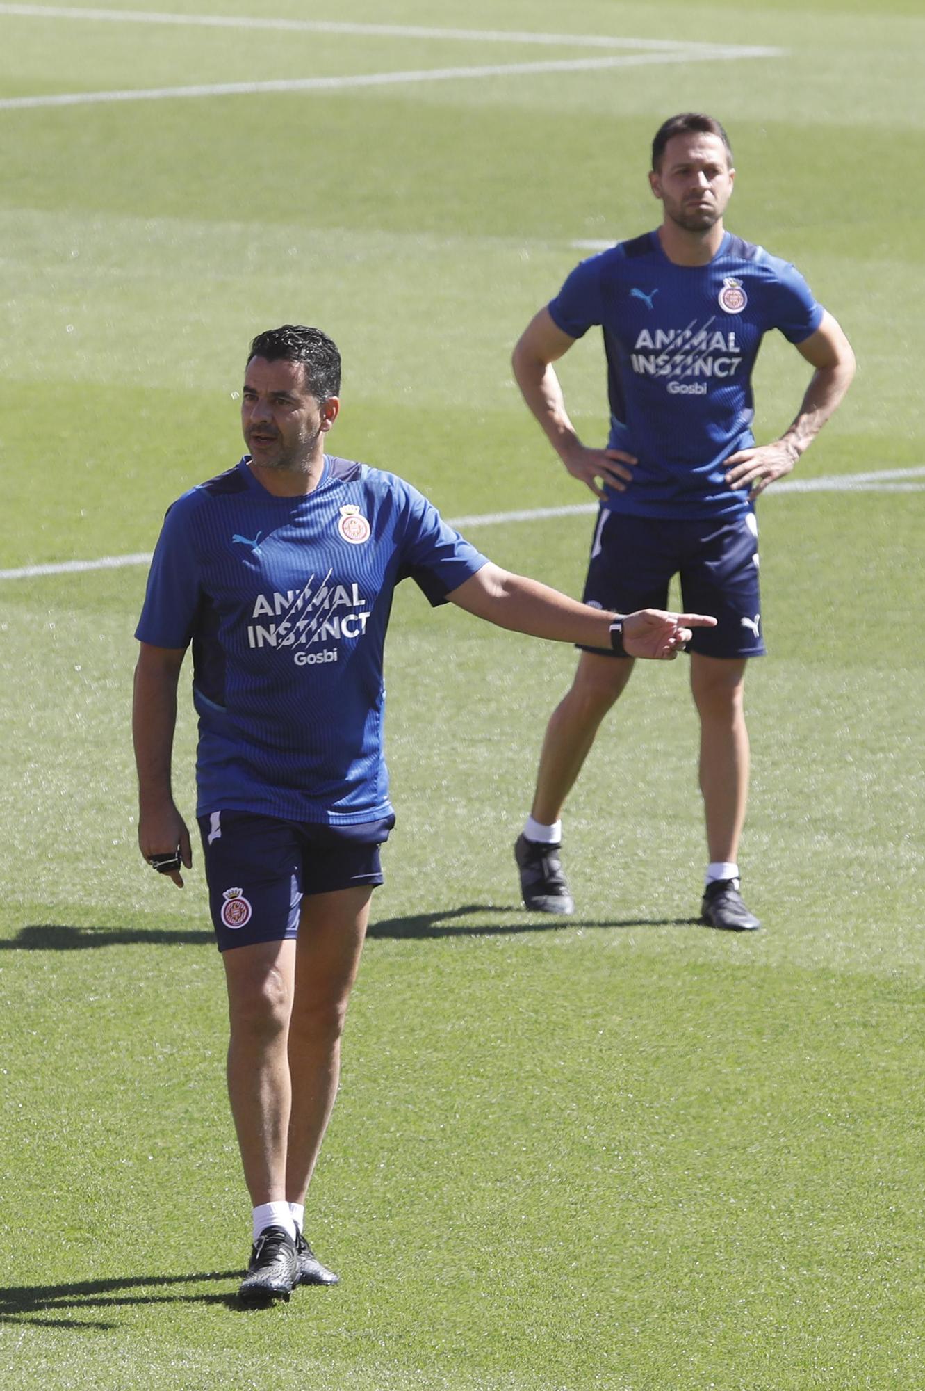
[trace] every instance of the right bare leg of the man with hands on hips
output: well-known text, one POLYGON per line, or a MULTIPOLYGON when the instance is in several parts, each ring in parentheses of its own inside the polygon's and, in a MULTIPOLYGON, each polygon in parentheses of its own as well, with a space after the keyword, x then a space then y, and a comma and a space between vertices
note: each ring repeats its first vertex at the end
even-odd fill
POLYGON ((690 690, 700 715, 700 790, 711 861, 739 858, 749 797, 744 658, 690 654, 690 690))

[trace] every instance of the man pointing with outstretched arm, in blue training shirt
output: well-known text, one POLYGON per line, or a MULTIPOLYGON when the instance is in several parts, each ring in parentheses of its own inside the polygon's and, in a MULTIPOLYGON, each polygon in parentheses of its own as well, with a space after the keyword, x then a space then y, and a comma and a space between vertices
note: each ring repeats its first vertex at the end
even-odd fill
POLYGON ((167 513, 138 625, 139 844, 182 887, 171 791, 193 647, 197 818, 228 985, 228 1091, 253 1203, 246 1301, 333 1284, 303 1235, 338 1089, 340 1032, 394 823, 382 648, 394 586, 536 637, 671 658, 712 618, 618 618, 485 559, 410 484, 324 452, 340 355, 317 328, 251 344, 249 455, 167 513))

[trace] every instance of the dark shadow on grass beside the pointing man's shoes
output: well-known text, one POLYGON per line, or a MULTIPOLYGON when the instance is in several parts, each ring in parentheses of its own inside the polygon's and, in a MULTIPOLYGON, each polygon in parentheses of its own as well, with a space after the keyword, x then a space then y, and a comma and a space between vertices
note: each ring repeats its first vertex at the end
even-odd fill
POLYGON ((165 1285, 196 1285, 214 1280, 240 1280, 240 1270, 218 1270, 196 1276, 128 1276, 124 1280, 82 1280, 65 1285, 11 1285, 0 1288, 0 1324, 29 1323, 47 1328, 108 1330, 117 1324, 104 1317, 81 1317, 81 1314, 158 1303, 212 1303, 240 1309, 236 1294, 157 1292, 165 1285), (78 1317, 71 1317, 71 1310, 78 1317))

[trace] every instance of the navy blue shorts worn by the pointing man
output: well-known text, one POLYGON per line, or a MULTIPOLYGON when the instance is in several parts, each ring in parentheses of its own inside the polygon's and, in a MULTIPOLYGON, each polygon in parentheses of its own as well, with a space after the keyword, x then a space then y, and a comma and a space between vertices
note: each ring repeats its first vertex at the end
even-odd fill
POLYGON ((356 826, 250 811, 200 817, 218 950, 296 938, 303 897, 382 883, 379 846, 393 825, 394 817, 356 826))

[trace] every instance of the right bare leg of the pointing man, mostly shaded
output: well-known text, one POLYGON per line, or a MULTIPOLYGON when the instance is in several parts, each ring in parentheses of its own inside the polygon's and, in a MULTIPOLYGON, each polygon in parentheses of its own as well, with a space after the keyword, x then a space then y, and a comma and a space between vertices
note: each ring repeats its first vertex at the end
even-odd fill
POLYGON ((289 1022, 292 1114, 286 1198, 304 1203, 340 1077, 340 1035, 360 967, 371 887, 303 900, 289 1022))

